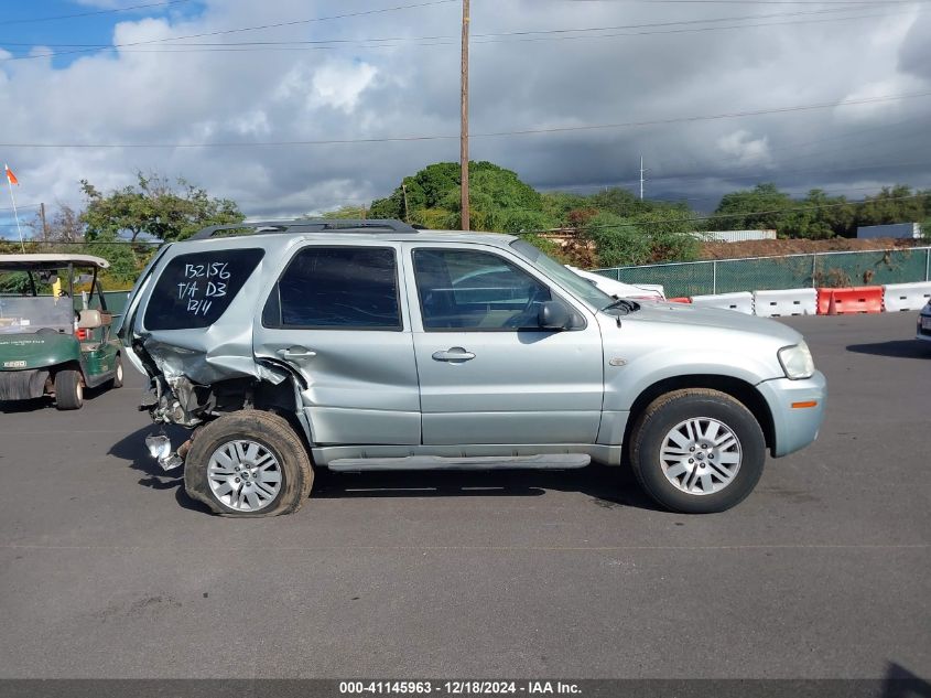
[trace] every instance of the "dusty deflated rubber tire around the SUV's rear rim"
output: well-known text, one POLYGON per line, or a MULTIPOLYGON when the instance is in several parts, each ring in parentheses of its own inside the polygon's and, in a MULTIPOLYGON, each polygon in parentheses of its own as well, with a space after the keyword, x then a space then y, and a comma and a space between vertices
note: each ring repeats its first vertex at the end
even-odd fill
MULTIPOLYGON (((215 477, 213 482, 218 484, 220 481, 215 477)), ((262 410, 240 410, 209 422, 197 431, 184 462, 184 487, 187 494, 221 516, 258 518, 291 514, 301 508, 313 482, 314 471, 307 451, 291 425, 282 417, 262 410), (208 477, 208 466, 215 453, 240 440, 266 449, 277 461, 275 472, 280 472, 277 495, 256 511, 242 511, 223 502, 213 491, 208 477)), ((230 497, 246 492, 246 485, 239 479, 236 479, 236 483, 239 484, 231 486, 241 488, 230 494, 230 497)), ((258 486, 259 483, 253 482, 250 486, 252 484, 258 486)))

